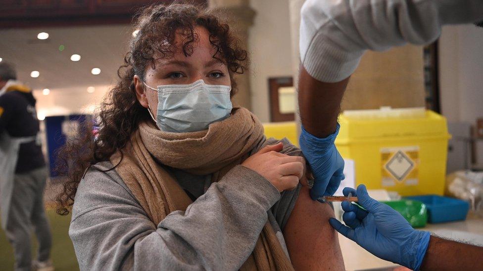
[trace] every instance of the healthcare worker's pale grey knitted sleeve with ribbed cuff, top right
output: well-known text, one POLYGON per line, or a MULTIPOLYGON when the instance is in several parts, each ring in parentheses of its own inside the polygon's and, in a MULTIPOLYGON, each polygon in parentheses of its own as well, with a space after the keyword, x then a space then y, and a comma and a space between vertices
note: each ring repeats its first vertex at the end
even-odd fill
POLYGON ((483 20, 483 0, 307 0, 300 15, 303 67, 317 80, 338 82, 367 49, 427 44, 441 25, 483 20))

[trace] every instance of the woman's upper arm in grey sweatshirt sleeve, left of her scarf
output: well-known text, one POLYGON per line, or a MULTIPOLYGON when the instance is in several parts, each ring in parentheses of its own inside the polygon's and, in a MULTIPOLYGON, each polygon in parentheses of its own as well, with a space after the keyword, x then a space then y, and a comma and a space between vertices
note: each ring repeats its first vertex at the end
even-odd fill
POLYGON ((90 169, 77 189, 69 236, 81 270, 132 269, 135 243, 156 231, 117 178, 90 169))

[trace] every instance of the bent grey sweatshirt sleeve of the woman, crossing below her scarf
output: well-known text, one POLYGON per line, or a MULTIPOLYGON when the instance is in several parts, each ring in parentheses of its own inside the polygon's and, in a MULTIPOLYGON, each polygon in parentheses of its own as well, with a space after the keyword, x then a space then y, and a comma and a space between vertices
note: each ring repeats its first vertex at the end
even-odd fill
POLYGON ((69 235, 80 270, 238 270, 280 198, 238 165, 154 225, 115 171, 98 170, 109 166, 90 169, 75 195, 69 235))

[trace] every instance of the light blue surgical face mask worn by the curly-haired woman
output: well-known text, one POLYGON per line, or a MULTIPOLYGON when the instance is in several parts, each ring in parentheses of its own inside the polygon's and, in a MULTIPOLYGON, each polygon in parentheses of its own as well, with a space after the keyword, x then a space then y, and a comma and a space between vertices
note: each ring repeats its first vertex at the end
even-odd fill
POLYGON ((208 129, 208 126, 221 121, 232 111, 231 87, 208 85, 200 79, 187 85, 158 85, 158 108, 156 122, 161 131, 186 133, 208 129))

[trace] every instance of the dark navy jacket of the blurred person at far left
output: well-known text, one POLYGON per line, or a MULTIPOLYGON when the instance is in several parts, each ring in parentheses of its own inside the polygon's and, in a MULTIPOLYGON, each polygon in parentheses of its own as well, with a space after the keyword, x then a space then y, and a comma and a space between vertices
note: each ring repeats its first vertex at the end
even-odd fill
MULTIPOLYGON (((35 111, 32 91, 10 90, 0 96, 0 134, 6 131, 11 137, 35 136, 39 120, 35 111)), ((20 145, 15 173, 25 173, 45 166, 41 145, 29 142, 20 145)))

